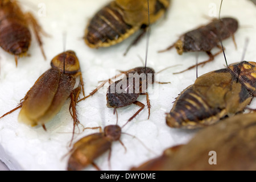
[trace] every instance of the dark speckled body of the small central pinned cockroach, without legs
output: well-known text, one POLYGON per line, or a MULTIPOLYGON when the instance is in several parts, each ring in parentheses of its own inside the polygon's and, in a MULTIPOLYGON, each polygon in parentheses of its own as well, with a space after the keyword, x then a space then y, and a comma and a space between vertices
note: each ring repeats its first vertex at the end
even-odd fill
POLYGON ((126 73, 125 78, 111 84, 108 88, 108 93, 106 94, 107 106, 118 108, 131 105, 133 102, 137 101, 139 95, 146 91, 142 90, 142 84, 145 84, 146 86, 144 86, 144 89, 147 89, 148 84, 154 83, 154 69, 146 68, 146 75, 144 75, 144 73, 144 67, 134 68, 126 73), (139 77, 142 74, 144 77, 141 77, 142 80, 139 81, 139 88, 136 88, 135 80, 139 79, 136 77, 139 77), (148 81, 149 74, 150 79, 148 81), (126 86, 125 88, 122 87, 124 85, 126 86), (118 93, 117 90, 120 90, 121 93, 118 93))

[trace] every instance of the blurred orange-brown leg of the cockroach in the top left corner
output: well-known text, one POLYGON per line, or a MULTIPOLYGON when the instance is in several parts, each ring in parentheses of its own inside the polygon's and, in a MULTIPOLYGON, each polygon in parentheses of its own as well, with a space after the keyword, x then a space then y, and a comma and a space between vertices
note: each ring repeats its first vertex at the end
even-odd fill
POLYGON ((43 49, 43 42, 39 36, 39 32, 45 36, 49 36, 48 34, 46 34, 46 32, 43 31, 43 28, 38 24, 37 20, 35 19, 35 17, 31 14, 31 13, 26 13, 25 17, 28 21, 29 24, 32 25, 32 28, 35 32, 35 36, 36 36, 36 40, 38 41, 39 47, 41 49, 42 55, 44 57, 44 60, 46 60, 46 54, 44 53, 44 49, 43 49))

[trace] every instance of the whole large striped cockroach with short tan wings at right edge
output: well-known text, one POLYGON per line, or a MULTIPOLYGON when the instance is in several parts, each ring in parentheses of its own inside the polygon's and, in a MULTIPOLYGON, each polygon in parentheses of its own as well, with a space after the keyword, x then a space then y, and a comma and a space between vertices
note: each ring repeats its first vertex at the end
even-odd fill
POLYGON ((167 114, 170 127, 196 129, 241 113, 256 96, 256 63, 242 61, 207 73, 188 86, 167 114))

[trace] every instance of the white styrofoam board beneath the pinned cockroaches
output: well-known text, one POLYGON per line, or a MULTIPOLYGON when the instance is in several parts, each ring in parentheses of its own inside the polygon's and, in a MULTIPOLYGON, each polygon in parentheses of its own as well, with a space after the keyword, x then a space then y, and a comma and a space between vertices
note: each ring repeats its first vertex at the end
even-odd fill
MULTIPOLYGON (((25 96, 27 90, 34 85, 37 78, 50 68, 52 57, 63 52, 63 32, 67 32, 66 48, 74 50, 79 57, 86 94, 97 86, 98 81, 109 78, 113 72, 142 65, 138 55, 141 57, 145 55, 145 38, 137 46, 131 48, 126 57, 123 57, 123 52, 136 35, 117 46, 97 50, 88 48, 82 40, 88 20, 98 9, 109 2, 108 0, 20 0, 20 2, 23 3, 23 10, 32 11, 37 15, 36 18, 44 30, 51 34, 51 38, 43 37, 47 61, 43 60, 35 39, 29 50, 31 56, 20 59, 18 68, 15 67, 14 57, 0 49, 0 115, 13 109, 25 96), (44 7, 46 7, 45 15, 42 9, 44 7)), ((138 137, 154 151, 154 154, 144 148, 137 139, 122 135, 121 139, 127 147, 127 152, 118 142, 113 144, 111 159, 113 170, 128 170, 130 167, 137 166, 145 160, 162 154, 167 147, 187 142, 195 133, 195 131, 171 129, 166 125, 165 113, 170 111, 177 95, 193 84, 196 79, 195 69, 180 75, 172 75, 172 73, 195 64, 196 53, 184 53, 183 56, 179 56, 175 50, 161 54, 157 51, 170 46, 184 32, 208 23, 209 19, 205 16, 217 15, 219 6, 219 0, 173 0, 167 18, 152 25, 148 67, 154 68, 156 72, 170 65, 183 64, 183 67, 171 68, 159 74, 159 81, 171 81, 171 84, 155 84, 155 89, 151 90, 150 119, 147 120, 148 112, 145 108, 137 118, 123 128, 123 132, 138 137)), ((221 16, 233 16, 239 20, 241 25, 236 33, 237 50, 234 48, 232 39, 223 42, 228 63, 241 61, 247 37, 250 43, 245 60, 255 61, 256 7, 253 3, 248 0, 225 0, 221 16)), ((217 49, 213 50, 215 51, 217 49)), ((207 59, 206 54, 200 53, 199 61, 205 59, 207 59)), ((224 68, 224 64, 224 58, 220 55, 212 63, 203 68, 199 67, 199 76, 224 68)), ((140 96, 139 101, 146 104, 145 96, 140 96)), ((253 102, 251 107, 255 108, 255 106, 253 102)), ((60 113, 47 123, 47 132, 42 127, 32 128, 19 123, 17 121, 19 111, 1 119, 0 160, 5 162, 11 170, 65 170, 68 158, 63 158, 63 156, 69 150, 68 142, 71 139, 73 125, 68 107, 69 101, 60 113)), ((118 124, 122 126, 138 109, 138 106, 134 105, 118 109, 118 124)), ((113 109, 106 107, 105 93, 98 93, 80 102, 77 112, 80 122, 85 127, 104 127, 116 122, 113 109)), ((76 135, 75 140, 95 132, 97 131, 86 130, 76 135)), ((96 163, 101 169, 110 169, 108 154, 101 156, 96 163)), ((94 170, 94 168, 88 167, 86 170, 94 170)))

